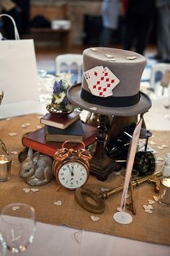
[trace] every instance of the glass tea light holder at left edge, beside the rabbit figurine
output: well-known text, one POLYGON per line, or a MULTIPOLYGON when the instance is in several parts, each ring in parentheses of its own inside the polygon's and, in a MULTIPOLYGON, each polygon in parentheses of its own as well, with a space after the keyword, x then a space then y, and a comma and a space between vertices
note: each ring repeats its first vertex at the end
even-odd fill
POLYGON ((0 155, 0 182, 6 182, 11 176, 12 158, 9 155, 0 155))

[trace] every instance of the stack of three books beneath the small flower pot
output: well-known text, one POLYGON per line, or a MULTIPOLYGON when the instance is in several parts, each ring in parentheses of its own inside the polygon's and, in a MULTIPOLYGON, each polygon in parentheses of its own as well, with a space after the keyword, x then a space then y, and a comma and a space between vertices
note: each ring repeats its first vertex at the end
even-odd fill
MULTIPOLYGON (((73 111, 68 116, 53 116, 50 113, 42 116, 40 123, 44 127, 22 137, 22 145, 53 157, 66 140, 81 140, 85 146, 96 141, 97 127, 81 122, 79 112, 73 111)), ((82 148, 81 142, 69 142, 67 148, 82 148)))

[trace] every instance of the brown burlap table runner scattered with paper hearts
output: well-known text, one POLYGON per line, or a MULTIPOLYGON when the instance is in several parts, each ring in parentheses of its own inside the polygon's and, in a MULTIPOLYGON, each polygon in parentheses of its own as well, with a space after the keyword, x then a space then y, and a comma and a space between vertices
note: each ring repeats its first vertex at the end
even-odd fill
MULTIPOLYGON (((23 149, 22 135, 40 126, 40 118, 38 117, 37 115, 19 116, 0 121, 0 137, 6 143, 9 152, 17 151, 19 153, 23 149), (27 124, 26 128, 22 128, 22 124, 27 124), (10 137, 9 132, 17 132, 17 135, 10 137)), ((153 131, 153 135, 155 137, 152 140, 156 142, 156 145, 152 148, 158 150, 157 146, 162 144, 170 147, 170 132, 153 131)), ((157 156, 164 158, 169 151, 169 148, 158 150, 157 156)), ((99 215, 89 213, 81 208, 74 199, 74 192, 59 189, 55 179, 49 184, 38 187, 40 189, 38 192, 25 193, 23 188, 29 186, 18 176, 18 156, 12 153, 10 155, 12 155, 12 177, 8 182, 0 183, 1 208, 12 202, 24 202, 35 208, 36 219, 42 223, 64 224, 76 229, 97 231, 145 242, 170 244, 170 208, 163 207, 156 202, 153 205, 153 213, 146 213, 143 209, 143 205, 148 204, 148 199, 153 199, 153 195, 156 195, 153 191, 153 185, 142 184, 135 188, 136 215, 133 215, 133 222, 129 225, 120 225, 113 220, 112 216, 116 212, 117 205, 120 204, 121 192, 104 201, 104 213, 99 215), (61 200, 61 206, 54 205, 54 202, 58 200, 61 200), (91 221, 90 216, 92 215, 99 216, 99 221, 91 221)), ((157 171, 160 169, 161 165, 158 165, 157 171)), ((110 174, 105 182, 90 176, 86 187, 99 193, 102 187, 111 189, 123 183, 124 177, 122 175, 110 174)))

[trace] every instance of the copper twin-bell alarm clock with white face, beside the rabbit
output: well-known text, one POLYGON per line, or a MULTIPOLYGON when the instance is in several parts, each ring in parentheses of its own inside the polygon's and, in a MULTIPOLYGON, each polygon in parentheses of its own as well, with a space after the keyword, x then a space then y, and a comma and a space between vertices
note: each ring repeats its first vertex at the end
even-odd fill
POLYGON ((81 142, 82 148, 73 150, 73 148, 64 148, 68 142, 81 142, 80 140, 67 140, 63 143, 53 156, 53 174, 62 187, 66 189, 77 189, 82 187, 89 178, 89 161, 91 154, 85 149, 84 142, 81 142))

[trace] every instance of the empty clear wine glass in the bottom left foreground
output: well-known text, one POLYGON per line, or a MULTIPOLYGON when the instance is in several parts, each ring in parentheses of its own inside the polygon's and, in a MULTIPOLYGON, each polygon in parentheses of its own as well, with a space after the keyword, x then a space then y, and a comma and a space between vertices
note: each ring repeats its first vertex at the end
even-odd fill
POLYGON ((24 203, 12 203, 1 209, 1 244, 12 253, 24 252, 35 235, 35 210, 24 203))

